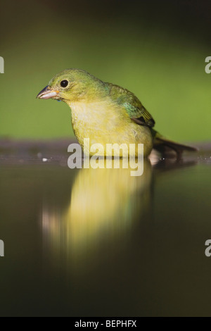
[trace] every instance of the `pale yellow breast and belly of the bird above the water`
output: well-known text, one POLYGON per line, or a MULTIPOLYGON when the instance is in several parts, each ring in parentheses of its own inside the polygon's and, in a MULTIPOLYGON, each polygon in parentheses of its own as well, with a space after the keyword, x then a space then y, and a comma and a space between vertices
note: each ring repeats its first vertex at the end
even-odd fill
POLYGON ((99 101, 75 102, 69 106, 72 112, 72 128, 82 148, 84 148, 84 138, 89 138, 90 145, 102 144, 105 151, 106 144, 143 143, 146 145, 144 154, 150 153, 152 149, 150 130, 148 127, 134 123, 120 106, 99 101))

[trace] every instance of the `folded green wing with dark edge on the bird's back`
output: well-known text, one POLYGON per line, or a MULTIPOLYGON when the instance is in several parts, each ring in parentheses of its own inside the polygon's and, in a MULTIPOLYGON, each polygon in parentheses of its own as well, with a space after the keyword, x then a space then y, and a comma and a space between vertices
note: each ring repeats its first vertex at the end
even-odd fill
POLYGON ((135 123, 148 127, 155 125, 152 115, 148 113, 146 108, 141 104, 141 101, 132 92, 118 85, 110 83, 106 83, 106 85, 109 89, 110 98, 117 104, 120 104, 120 106, 123 106, 135 123))

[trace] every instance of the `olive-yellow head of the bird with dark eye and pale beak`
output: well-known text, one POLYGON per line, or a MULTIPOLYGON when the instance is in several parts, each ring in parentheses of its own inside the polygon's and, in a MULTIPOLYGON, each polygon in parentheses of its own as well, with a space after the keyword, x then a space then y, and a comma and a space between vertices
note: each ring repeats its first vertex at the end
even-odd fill
POLYGON ((49 85, 39 92, 38 99, 56 99, 68 104, 91 101, 103 94, 103 82, 79 69, 66 69, 58 73, 49 85))

